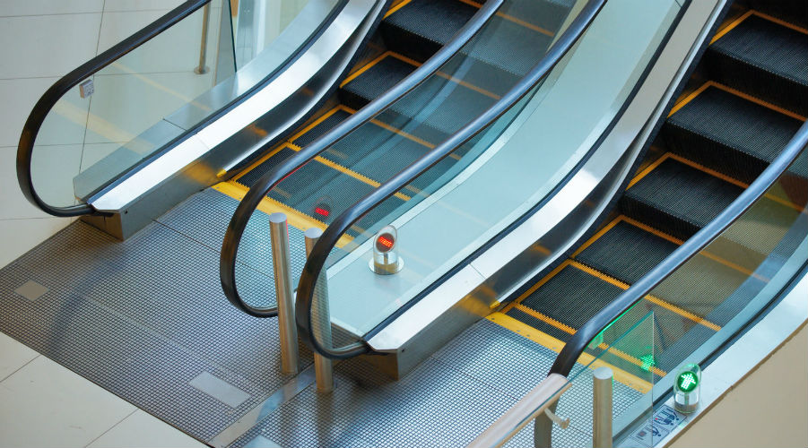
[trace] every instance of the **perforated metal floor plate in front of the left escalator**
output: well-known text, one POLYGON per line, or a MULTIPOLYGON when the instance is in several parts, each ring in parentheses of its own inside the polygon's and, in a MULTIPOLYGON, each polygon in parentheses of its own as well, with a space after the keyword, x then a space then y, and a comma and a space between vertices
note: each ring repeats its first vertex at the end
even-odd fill
MULTIPOLYGON (((125 242, 68 226, 0 270, 0 331, 211 440, 290 379, 279 373, 277 320, 242 314, 222 294, 219 246, 236 205, 205 191, 125 242), (203 392, 198 377, 226 393, 203 392)), ((239 281, 273 303, 266 219, 250 223, 239 281)), ((302 233, 290 238, 299 272, 302 233)), ((301 358, 308 366, 310 353, 301 358)))

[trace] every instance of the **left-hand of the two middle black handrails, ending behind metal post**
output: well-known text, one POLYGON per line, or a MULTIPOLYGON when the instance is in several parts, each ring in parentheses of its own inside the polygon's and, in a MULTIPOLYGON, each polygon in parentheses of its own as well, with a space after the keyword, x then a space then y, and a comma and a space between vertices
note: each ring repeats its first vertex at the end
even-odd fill
POLYGON ((446 46, 440 48, 434 56, 415 69, 413 73, 395 84, 393 88, 387 90, 377 99, 370 101, 367 106, 346 118, 342 123, 334 126, 329 132, 309 143, 307 147, 292 154, 281 165, 266 172, 250 187, 248 194, 239 202, 239 206, 230 219, 230 224, 228 224, 222 243, 222 255, 219 259, 219 276, 222 281, 222 290, 233 306, 256 317, 273 317, 278 314, 277 306, 258 307, 249 305, 240 296, 236 285, 236 257, 239 253, 241 237, 244 235, 249 219, 256 211, 258 204, 264 200, 266 194, 296 169, 315 159, 323 151, 333 146, 334 143, 341 141, 361 125, 368 123, 379 112, 398 99, 403 98, 404 95, 420 86, 422 82, 425 82, 430 75, 436 73, 449 58, 455 56, 460 51, 460 48, 482 29, 482 26, 500 8, 503 1, 489 0, 483 4, 482 8, 474 14, 469 22, 465 23, 463 28, 457 31, 446 46))

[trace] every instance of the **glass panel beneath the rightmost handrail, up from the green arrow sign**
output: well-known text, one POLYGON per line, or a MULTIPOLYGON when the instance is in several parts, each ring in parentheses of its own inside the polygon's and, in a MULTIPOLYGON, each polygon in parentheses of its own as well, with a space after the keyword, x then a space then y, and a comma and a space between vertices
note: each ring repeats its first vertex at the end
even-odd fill
POLYGON ((665 309, 670 314, 659 319, 665 336, 657 357, 661 369, 673 372, 702 362, 760 314, 804 266, 806 157, 803 151, 752 208, 643 300, 657 314, 665 309))

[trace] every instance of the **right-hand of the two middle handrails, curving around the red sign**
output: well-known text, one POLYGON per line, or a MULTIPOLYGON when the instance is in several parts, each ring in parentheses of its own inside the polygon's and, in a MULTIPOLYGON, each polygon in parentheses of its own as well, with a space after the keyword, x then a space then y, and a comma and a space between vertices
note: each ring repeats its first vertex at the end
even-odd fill
POLYGON ((595 20, 595 16, 601 8, 603 8, 605 3, 606 0, 589 0, 580 13, 578 13, 576 19, 569 25, 569 28, 564 31, 561 37, 547 51, 547 54, 542 60, 535 65, 516 86, 491 106, 491 108, 483 112, 480 116, 477 116, 474 121, 465 125, 456 134, 447 138, 446 141, 440 143, 434 150, 431 150, 422 156, 421 159, 416 160, 413 164, 404 168, 395 175, 395 177, 390 178, 386 183, 379 185, 378 188, 354 203, 326 228, 326 231, 317 240, 317 244, 312 249, 311 254, 308 255, 306 265, 303 267, 295 303, 295 319, 300 328, 300 336, 308 341, 312 349, 315 349, 317 353, 327 358, 334 359, 352 358, 361 354, 363 349, 367 350, 366 346, 361 342, 355 342, 339 349, 323 347, 315 337, 314 328, 312 328, 311 325, 312 297, 316 288, 317 278, 325 267, 326 258, 331 253, 334 246, 336 246, 339 238, 342 237, 356 221, 360 220, 365 213, 376 207, 379 203, 387 200, 387 198, 404 188, 405 185, 413 182, 413 179, 421 176, 421 174, 439 163, 440 160, 446 158, 453 151, 456 151, 456 149, 465 142, 474 138, 476 134, 482 132, 483 129, 505 114, 508 109, 512 108, 519 99, 525 97, 530 90, 533 90, 578 41, 578 38, 586 31, 589 24, 595 20))

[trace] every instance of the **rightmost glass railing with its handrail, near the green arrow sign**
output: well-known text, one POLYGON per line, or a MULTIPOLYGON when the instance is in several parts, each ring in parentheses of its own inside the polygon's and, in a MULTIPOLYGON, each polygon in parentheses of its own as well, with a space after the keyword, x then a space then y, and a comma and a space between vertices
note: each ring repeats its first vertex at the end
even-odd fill
MULTIPOLYGON (((604 333, 623 332, 656 313, 653 387, 623 427, 673 388, 683 366, 700 364, 775 301, 808 263, 808 125, 716 220, 596 314, 567 342, 551 373, 569 375, 604 333), (665 306, 688 310, 665 319, 665 306)), ((667 313, 669 314, 669 313, 667 313)), ((555 433, 553 433, 555 434, 555 433)), ((631 433, 636 436, 636 431, 631 433)), ((620 439, 632 435, 621 434, 620 439)), ((615 439, 615 444, 619 440, 615 439)), ((622 441, 637 444, 637 441, 622 441)), ((655 441, 656 442, 656 441, 655 441)))

